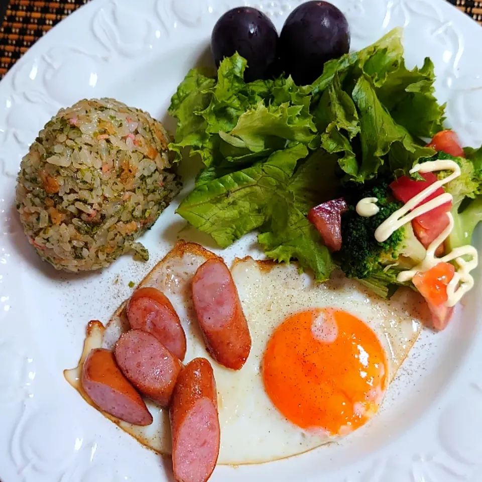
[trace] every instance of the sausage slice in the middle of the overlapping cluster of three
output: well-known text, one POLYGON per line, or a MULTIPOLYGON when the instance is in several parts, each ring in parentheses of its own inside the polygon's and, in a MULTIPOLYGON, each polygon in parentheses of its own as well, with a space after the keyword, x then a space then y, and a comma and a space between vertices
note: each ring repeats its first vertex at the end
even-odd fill
POLYGON ((154 335, 143 330, 124 333, 115 344, 115 359, 142 394, 167 407, 181 372, 179 358, 154 335))

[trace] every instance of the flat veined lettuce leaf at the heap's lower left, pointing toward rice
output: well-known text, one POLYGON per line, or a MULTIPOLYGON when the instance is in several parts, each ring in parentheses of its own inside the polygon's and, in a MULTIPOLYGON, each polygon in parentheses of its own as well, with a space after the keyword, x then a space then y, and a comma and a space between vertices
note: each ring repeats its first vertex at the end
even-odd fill
POLYGON ((266 162, 198 184, 176 212, 226 248, 269 219, 273 197, 286 190, 297 162, 307 154, 298 144, 266 162))

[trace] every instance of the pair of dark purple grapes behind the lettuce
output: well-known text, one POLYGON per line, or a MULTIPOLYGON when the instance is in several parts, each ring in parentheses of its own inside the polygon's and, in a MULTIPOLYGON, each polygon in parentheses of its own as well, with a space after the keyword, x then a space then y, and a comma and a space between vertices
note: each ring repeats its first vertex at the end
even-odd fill
POLYGON ((224 14, 211 36, 217 66, 235 52, 247 59, 247 82, 285 72, 298 85, 310 84, 321 75, 326 61, 341 57, 349 47, 345 16, 334 5, 318 0, 293 10, 280 36, 266 15, 250 7, 224 14))

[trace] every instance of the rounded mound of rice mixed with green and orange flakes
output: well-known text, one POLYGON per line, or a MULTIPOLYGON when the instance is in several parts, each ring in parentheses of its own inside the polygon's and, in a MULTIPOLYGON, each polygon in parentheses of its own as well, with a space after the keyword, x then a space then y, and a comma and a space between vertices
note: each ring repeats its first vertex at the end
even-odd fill
POLYGON ((161 123, 114 99, 61 109, 17 180, 17 209, 42 259, 72 272, 106 267, 127 252, 147 260, 136 240, 180 189, 168 143, 161 123))

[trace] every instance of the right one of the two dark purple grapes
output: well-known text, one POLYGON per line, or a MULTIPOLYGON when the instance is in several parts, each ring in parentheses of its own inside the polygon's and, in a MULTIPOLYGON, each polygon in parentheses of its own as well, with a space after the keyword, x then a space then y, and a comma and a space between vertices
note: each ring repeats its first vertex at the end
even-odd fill
POLYGON ((291 74, 298 85, 307 85, 322 74, 326 61, 348 52, 348 22, 328 2, 306 2, 286 19, 278 45, 286 75, 291 74))

